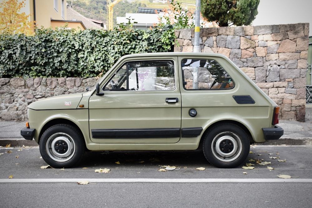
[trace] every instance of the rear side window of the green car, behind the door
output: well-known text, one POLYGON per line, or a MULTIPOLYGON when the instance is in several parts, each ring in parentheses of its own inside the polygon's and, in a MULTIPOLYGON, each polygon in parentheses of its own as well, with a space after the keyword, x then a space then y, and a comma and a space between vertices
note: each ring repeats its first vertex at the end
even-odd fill
POLYGON ((232 89, 234 81, 215 60, 182 60, 184 89, 232 89))

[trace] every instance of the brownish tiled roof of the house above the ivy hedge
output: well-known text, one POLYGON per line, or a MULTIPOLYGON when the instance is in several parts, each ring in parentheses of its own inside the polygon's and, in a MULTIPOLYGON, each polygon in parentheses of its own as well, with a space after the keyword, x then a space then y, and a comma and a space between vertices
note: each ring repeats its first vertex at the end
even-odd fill
POLYGON ((67 20, 81 21, 86 29, 103 29, 103 27, 100 26, 101 24, 103 25, 103 22, 91 20, 81 15, 79 12, 76 12, 71 6, 67 6, 67 20))

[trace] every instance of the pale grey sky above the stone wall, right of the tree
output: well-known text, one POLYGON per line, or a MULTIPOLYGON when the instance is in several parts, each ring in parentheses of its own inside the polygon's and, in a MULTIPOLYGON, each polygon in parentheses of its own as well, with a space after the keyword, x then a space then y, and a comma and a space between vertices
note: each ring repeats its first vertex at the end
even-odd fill
POLYGON ((258 25, 310 23, 312 36, 312 0, 260 0, 258 14, 252 22, 258 25))

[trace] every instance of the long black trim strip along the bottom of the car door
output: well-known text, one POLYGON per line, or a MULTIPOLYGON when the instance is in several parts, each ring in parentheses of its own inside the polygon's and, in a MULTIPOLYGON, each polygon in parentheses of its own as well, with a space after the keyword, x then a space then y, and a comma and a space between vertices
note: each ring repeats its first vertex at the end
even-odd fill
POLYGON ((92 138, 175 138, 180 128, 91 129, 92 138))

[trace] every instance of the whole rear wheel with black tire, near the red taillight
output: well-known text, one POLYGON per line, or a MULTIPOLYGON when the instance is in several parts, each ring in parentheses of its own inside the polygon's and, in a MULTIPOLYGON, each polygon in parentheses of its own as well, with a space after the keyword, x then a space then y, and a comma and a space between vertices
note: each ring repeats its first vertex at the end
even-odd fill
POLYGON ((216 167, 237 167, 249 154, 249 135, 233 123, 213 126, 203 139, 204 155, 216 167))

